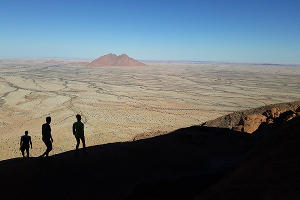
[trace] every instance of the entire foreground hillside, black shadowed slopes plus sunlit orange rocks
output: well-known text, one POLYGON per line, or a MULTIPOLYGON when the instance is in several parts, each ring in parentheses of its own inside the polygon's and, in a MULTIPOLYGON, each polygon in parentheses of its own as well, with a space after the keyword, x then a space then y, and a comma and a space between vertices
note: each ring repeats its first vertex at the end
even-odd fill
POLYGON ((191 126, 77 156, 2 160, 1 199, 297 199, 298 103, 232 113, 230 128, 191 126), (259 125, 245 132, 257 125, 253 114, 259 125))

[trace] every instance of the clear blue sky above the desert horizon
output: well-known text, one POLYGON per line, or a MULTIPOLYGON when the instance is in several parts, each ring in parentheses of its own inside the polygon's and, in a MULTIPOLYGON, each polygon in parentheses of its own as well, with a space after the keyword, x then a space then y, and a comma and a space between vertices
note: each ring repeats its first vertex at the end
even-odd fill
POLYGON ((300 61, 300 0, 0 0, 0 56, 300 61))

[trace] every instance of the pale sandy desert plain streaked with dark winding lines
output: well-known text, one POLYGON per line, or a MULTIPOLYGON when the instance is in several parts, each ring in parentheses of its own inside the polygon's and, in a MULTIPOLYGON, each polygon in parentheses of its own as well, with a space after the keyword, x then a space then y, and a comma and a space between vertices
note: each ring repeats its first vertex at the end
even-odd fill
POLYGON ((0 160, 45 150, 41 125, 51 116, 53 150, 74 149, 81 114, 86 145, 128 141, 138 133, 198 125, 232 111, 300 99, 300 65, 154 62, 138 67, 87 67, 86 59, 0 58, 0 160), (33 62, 24 62, 30 60, 33 62))

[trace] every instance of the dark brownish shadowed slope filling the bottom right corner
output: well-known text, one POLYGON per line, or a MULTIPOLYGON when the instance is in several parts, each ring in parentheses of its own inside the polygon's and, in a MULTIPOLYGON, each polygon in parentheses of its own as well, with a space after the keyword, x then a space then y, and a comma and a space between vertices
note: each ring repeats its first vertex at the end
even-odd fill
POLYGON ((259 141, 227 177, 194 199, 298 199, 300 117, 259 141))

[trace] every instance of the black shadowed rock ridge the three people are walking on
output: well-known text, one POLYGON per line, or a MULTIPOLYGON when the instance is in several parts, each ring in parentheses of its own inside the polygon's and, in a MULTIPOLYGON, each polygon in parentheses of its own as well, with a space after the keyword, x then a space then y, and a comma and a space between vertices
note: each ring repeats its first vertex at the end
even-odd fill
POLYGON ((188 199, 232 170, 256 142, 253 137, 227 128, 191 126, 133 142, 90 146, 78 156, 68 151, 51 160, 3 160, 1 196, 188 199))

